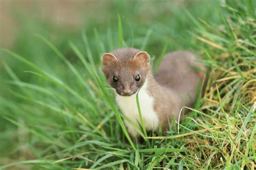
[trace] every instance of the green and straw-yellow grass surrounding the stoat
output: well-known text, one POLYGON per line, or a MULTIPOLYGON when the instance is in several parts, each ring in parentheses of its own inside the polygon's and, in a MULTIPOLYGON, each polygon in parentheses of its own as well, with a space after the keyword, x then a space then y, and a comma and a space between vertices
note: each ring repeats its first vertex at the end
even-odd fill
POLYGON ((14 46, 1 50, 0 169, 253 169, 256 4, 182 5, 117 1, 107 23, 75 33, 22 18, 14 46), (149 52, 156 70, 168 51, 203 58, 206 89, 184 108, 179 133, 172 122, 167 136, 138 129, 145 140, 130 139, 100 71, 102 53, 119 46, 149 52))

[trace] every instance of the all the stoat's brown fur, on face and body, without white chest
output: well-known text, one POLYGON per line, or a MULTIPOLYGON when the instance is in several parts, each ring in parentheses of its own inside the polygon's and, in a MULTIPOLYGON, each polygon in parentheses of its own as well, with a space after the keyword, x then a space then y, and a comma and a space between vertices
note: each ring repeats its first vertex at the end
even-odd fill
POLYGON ((109 84, 121 94, 125 86, 130 86, 133 93, 136 93, 148 79, 147 90, 154 98, 154 111, 158 114, 160 121, 163 122, 163 130, 168 127, 168 118, 171 121, 174 118, 178 120, 178 115, 183 104, 193 106, 193 99, 196 96, 198 81, 204 76, 194 70, 192 67, 199 67, 205 70, 205 67, 196 62, 196 56, 188 51, 176 51, 167 53, 155 77, 153 77, 150 66, 144 57, 133 59, 140 50, 133 48, 117 49, 111 53, 118 60, 113 60, 103 66, 103 72, 107 77, 109 84), (142 80, 134 84, 130 76, 136 76, 140 73, 142 80), (120 83, 114 84, 113 74, 120 77, 120 83), (189 97, 190 96, 190 97, 189 97), (184 103, 185 99, 185 103, 184 103))

